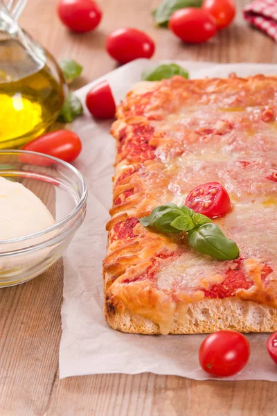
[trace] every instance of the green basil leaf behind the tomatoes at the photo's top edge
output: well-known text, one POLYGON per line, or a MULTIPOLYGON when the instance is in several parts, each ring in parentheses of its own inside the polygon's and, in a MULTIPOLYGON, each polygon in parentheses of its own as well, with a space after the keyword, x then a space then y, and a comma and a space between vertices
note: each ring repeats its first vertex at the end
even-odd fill
POLYGON ((200 7, 203 0, 162 0, 152 15, 157 26, 168 26, 170 16, 181 8, 200 7))

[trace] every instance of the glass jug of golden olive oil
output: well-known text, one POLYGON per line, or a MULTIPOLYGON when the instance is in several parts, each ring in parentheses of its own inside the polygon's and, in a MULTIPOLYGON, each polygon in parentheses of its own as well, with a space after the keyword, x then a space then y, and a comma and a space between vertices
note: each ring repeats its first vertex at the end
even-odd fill
POLYGON ((19 148, 57 119, 66 88, 53 57, 23 31, 26 0, 0 0, 0 149, 19 148))

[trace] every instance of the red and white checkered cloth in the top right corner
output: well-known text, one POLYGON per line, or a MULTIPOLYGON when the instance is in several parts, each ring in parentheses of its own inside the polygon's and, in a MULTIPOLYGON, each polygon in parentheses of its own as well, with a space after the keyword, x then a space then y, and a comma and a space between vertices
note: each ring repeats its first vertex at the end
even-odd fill
POLYGON ((277 42, 277 0, 254 0, 243 12, 244 19, 277 42))

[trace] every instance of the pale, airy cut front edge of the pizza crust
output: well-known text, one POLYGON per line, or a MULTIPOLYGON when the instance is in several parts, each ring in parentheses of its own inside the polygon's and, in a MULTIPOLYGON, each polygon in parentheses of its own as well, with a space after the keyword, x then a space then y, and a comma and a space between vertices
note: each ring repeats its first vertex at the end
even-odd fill
MULTIPOLYGON (((148 335, 167 333, 152 320, 120 312, 113 306, 105 315, 108 324, 118 331, 148 335)), ((277 310, 270 306, 235 298, 205 299, 181 306, 175 312, 170 329, 172 334, 211 333, 221 330, 239 332, 274 332, 277 330, 277 310)))

